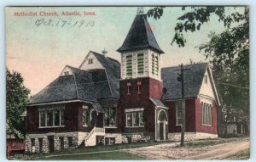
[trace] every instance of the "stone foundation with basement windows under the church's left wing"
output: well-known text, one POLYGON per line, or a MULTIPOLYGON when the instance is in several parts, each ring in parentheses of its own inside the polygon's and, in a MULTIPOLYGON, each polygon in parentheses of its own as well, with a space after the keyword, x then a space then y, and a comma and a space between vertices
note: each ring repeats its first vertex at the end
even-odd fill
POLYGON ((49 132, 45 134, 28 134, 26 135, 25 151, 26 153, 39 153, 39 142, 38 138, 43 139, 43 146, 41 148, 42 153, 49 153, 49 136, 54 137, 54 151, 61 151, 61 140, 60 137, 63 137, 64 149, 73 149, 79 147, 81 142, 83 142, 84 137, 87 135, 87 132, 61 132, 54 133, 49 132), (69 146, 68 137, 72 137, 72 146, 69 146), (34 140, 34 146, 32 147, 32 140, 34 140))

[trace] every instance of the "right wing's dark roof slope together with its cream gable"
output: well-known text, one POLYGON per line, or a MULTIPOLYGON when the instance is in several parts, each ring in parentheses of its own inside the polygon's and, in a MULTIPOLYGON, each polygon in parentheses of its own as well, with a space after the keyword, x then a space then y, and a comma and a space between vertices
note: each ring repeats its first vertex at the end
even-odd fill
MULTIPOLYGON (((215 99, 219 103, 218 93, 212 77, 212 72, 207 63, 184 65, 184 94, 185 98, 197 98, 204 95, 215 99), (208 83, 204 83, 204 77, 207 75, 208 83)), ((168 67, 161 70, 162 80, 166 93, 164 100, 173 100, 181 97, 181 83, 177 81, 177 73, 180 73, 180 67, 168 67)))

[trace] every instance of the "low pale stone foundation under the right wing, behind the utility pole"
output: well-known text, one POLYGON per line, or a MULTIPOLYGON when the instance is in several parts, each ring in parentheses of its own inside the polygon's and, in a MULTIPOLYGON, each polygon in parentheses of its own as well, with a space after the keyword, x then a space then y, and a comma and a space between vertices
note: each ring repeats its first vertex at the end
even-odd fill
MULTIPOLYGON (((168 139, 171 141, 180 141, 181 133, 168 133, 168 139)), ((199 139, 218 138, 217 134, 202 132, 185 132, 184 141, 194 141, 199 139)))

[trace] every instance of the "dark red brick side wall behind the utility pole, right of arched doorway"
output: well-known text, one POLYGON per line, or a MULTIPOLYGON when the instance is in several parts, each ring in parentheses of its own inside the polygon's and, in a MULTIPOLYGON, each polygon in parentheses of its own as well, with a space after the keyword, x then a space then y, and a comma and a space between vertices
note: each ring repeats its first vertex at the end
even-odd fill
MULTIPOLYGON (((180 132, 181 126, 176 126, 177 116, 176 116, 176 102, 168 101, 165 102, 168 110, 168 126, 169 132, 180 132)), ((185 102, 186 106, 186 131, 195 132, 195 99, 187 99, 185 102)))

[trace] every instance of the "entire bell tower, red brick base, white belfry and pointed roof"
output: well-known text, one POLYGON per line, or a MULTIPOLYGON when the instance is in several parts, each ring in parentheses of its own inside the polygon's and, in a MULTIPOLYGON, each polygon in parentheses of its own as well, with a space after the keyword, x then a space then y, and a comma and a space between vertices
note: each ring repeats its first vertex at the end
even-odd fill
POLYGON ((119 129, 131 141, 141 136, 159 140, 160 130, 164 130, 161 135, 166 139, 167 122, 160 129, 159 120, 160 111, 167 109, 160 101, 163 89, 160 61, 164 52, 143 8, 138 8, 125 42, 117 51, 121 53, 119 129))

